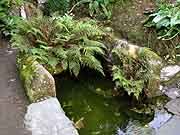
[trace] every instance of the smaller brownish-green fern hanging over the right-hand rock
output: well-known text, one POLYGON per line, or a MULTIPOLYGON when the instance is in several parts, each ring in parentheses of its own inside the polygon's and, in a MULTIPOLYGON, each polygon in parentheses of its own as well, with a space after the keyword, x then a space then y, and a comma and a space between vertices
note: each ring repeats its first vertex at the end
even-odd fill
MULTIPOLYGON (((143 51, 142 51, 143 52, 143 51)), ((112 76, 116 88, 125 90, 129 95, 137 99, 145 88, 145 84, 151 77, 150 67, 143 58, 143 53, 138 59, 128 56, 127 50, 114 48, 112 76)))

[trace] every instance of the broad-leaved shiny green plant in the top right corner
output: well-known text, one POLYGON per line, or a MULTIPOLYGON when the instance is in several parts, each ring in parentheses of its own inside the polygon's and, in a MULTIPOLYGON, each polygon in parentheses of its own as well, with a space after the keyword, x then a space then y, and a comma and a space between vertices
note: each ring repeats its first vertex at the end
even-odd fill
POLYGON ((158 6, 157 10, 149 14, 145 26, 156 28, 159 39, 173 39, 180 34, 180 2, 158 6))

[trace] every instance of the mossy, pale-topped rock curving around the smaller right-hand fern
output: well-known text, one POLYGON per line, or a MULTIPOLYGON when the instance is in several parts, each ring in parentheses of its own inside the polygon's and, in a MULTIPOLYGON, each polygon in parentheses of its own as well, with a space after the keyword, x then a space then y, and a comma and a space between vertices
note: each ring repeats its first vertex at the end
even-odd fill
MULTIPOLYGON (((146 47, 139 47, 137 45, 128 43, 125 40, 117 40, 115 48, 123 51, 125 57, 137 60, 143 58, 146 61, 146 65, 150 70, 150 77, 148 78, 148 82, 146 82, 144 88, 147 89, 147 96, 149 98, 157 96, 157 91, 160 87, 160 71, 162 67, 162 59, 151 49, 146 47)), ((121 62, 116 61, 115 63, 121 62)))

